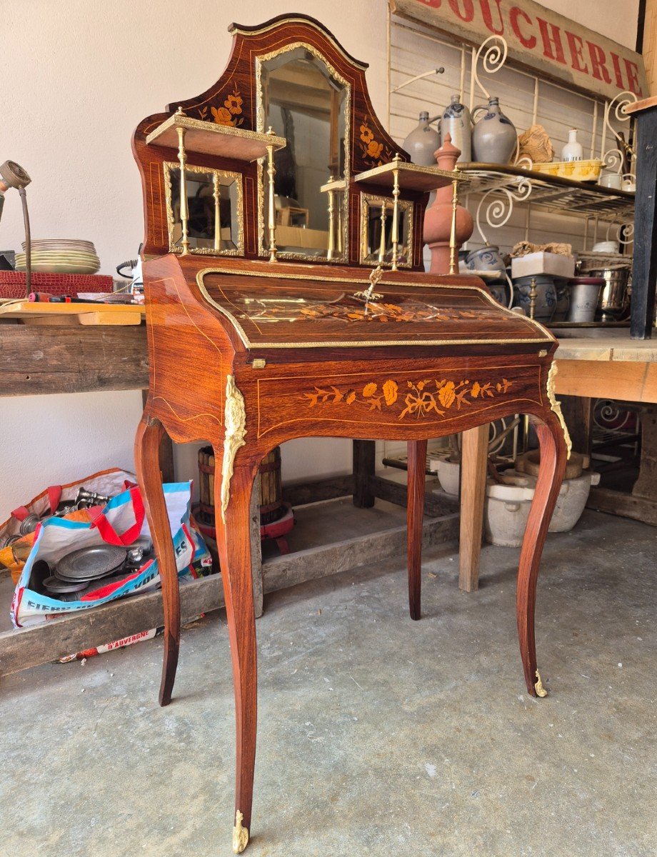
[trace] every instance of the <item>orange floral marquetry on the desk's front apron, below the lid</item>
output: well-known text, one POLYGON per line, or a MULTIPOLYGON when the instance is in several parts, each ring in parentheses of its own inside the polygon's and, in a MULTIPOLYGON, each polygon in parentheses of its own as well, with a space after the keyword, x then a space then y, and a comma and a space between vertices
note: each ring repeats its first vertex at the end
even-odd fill
POLYGON ((381 411, 382 405, 388 408, 399 404, 397 419, 404 417, 428 417, 437 414, 444 417, 453 408, 461 411, 465 405, 472 405, 472 399, 495 399, 496 396, 507 393, 511 381, 502 378, 500 381, 449 381, 446 378, 426 378, 420 381, 406 381, 406 393, 400 400, 397 381, 388 378, 380 387, 376 381, 368 381, 359 396, 349 387, 340 389, 331 384, 326 387, 314 387, 313 393, 303 393, 302 399, 310 408, 317 405, 367 405, 370 411, 381 411))

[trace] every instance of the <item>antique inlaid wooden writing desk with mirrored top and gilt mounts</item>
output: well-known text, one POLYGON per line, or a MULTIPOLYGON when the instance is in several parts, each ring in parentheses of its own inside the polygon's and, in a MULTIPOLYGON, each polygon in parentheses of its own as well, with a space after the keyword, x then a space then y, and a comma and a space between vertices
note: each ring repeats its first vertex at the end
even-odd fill
POLYGON ((240 852, 251 826, 256 728, 248 512, 261 459, 296 437, 409 442, 409 606, 419 619, 427 438, 533 415, 541 473, 520 556, 517 624, 529 693, 544 695, 535 585, 566 444, 550 333, 500 308, 478 279, 422 271, 427 191, 457 176, 397 153, 373 114, 366 66, 316 21, 294 15, 232 32, 219 81, 147 117, 134 135, 150 362, 135 449, 164 594, 162 704, 176 673, 180 609, 159 440, 164 431, 180 442, 209 440, 221 461, 215 505, 240 852))

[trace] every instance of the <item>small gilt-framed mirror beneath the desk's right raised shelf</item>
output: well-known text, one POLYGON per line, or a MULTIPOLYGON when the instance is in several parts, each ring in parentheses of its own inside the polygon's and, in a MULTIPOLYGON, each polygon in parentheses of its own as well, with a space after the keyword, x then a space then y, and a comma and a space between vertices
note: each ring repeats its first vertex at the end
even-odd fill
MULTIPOLYGON (((413 256, 413 203, 398 201, 397 265, 411 267, 413 256)), ((361 265, 391 264, 394 201, 385 196, 361 194, 361 265)))

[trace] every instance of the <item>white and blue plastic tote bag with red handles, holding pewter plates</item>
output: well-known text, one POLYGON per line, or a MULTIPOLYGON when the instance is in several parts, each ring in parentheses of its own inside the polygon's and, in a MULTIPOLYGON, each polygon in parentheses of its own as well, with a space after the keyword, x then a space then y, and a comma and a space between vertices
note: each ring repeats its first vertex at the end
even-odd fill
MULTIPOLYGON (((189 523, 191 482, 172 482, 163 488, 179 576, 188 572, 193 562, 197 564, 200 561, 204 566, 211 566, 212 558, 205 542, 189 523)), ((30 589, 32 569, 37 560, 45 560, 52 568, 63 556, 79 548, 101 544, 128 545, 139 536, 150 538, 150 530, 137 487, 128 488, 113 497, 91 524, 47 518, 37 527, 32 551, 16 585, 11 604, 14 625, 33 625, 158 586, 158 561, 149 559, 122 580, 104 586, 101 578, 98 588, 83 594, 79 601, 59 601, 30 589)))

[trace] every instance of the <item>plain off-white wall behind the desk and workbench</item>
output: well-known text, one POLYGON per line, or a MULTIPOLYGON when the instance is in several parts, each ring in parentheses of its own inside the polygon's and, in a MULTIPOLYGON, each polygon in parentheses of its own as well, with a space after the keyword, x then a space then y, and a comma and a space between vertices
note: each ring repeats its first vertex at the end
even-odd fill
MULTIPOLYGON (((623 3, 622 16, 617 0, 550 5, 633 45, 636 2, 623 3)), ((114 273, 119 262, 134 256, 142 237, 140 177, 130 151, 135 125, 218 78, 230 51, 230 21, 257 24, 302 6, 347 51, 370 63, 370 95, 375 111, 385 116, 385 0, 251 0, 243 7, 225 0, 7 5, 0 160, 14 159, 32 176, 33 236, 92 240, 102 273, 114 273)), ((9 192, 0 249, 20 249, 22 237, 18 199, 9 192)), ((101 466, 131 466, 140 408, 136 391, 3 399, 0 520, 46 485, 101 466)), ((180 450, 177 463, 179 476, 195 475, 194 450, 180 450)), ((349 464, 349 441, 300 440, 284 449, 288 479, 335 473, 349 464)))

